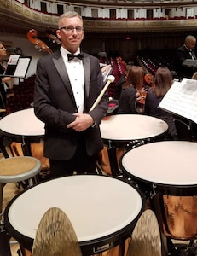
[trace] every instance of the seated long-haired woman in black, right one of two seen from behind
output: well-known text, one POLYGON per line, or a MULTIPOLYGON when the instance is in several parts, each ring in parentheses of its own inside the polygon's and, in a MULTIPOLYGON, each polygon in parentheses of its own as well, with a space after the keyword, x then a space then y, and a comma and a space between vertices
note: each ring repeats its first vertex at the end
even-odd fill
POLYGON ((171 113, 158 108, 159 103, 173 84, 171 71, 167 67, 159 67, 154 76, 154 86, 148 90, 144 113, 163 119, 169 126, 171 138, 177 138, 174 117, 171 113))

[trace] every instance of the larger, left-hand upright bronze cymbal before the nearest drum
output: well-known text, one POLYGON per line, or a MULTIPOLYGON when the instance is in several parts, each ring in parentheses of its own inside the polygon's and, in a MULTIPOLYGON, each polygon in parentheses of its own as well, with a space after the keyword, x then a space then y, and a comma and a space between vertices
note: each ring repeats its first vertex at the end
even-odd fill
POLYGON ((72 223, 60 208, 43 214, 32 247, 32 256, 82 256, 72 223))

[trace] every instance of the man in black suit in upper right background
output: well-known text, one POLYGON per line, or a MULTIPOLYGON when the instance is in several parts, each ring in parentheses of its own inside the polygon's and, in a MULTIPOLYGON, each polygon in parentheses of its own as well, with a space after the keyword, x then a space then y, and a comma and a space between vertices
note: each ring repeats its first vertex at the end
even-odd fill
POLYGON ((194 67, 187 67, 183 65, 183 62, 186 59, 196 60, 194 53, 194 47, 196 44, 196 38, 192 35, 188 35, 185 38, 185 43, 183 46, 179 47, 175 54, 174 66, 177 72, 177 75, 180 80, 183 78, 191 79, 193 73, 195 72, 194 67))

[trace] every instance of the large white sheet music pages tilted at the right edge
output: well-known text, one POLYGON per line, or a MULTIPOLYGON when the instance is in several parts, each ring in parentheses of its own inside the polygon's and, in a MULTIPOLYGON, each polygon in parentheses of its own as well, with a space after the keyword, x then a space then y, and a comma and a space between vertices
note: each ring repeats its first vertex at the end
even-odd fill
POLYGON ((181 83, 174 82, 159 108, 197 123, 197 80, 183 79, 181 83))

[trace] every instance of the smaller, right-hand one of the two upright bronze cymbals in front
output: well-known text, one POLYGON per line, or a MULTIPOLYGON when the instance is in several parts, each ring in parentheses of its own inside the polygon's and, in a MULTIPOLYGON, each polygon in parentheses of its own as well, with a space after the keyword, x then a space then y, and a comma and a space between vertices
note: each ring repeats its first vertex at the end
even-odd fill
POLYGON ((159 224, 150 209, 142 213, 131 234, 127 256, 161 256, 159 224))

